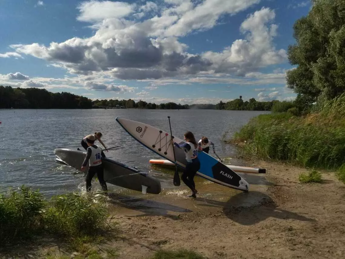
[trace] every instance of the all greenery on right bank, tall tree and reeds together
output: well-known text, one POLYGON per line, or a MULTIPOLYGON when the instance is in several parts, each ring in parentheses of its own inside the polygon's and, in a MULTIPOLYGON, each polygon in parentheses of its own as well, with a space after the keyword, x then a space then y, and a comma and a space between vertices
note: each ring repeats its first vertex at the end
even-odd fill
POLYGON ((247 155, 337 169, 344 181, 344 1, 313 2, 308 15, 295 22, 296 44, 288 48, 297 67, 286 78, 296 100, 276 103, 272 114, 252 118, 232 142, 246 141, 247 155))

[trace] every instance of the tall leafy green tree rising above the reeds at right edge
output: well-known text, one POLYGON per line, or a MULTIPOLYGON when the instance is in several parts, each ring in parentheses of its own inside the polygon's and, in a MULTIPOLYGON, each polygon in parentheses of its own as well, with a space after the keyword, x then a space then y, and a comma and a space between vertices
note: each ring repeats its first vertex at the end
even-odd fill
POLYGON ((294 24, 296 44, 288 47, 287 85, 299 105, 332 99, 345 90, 345 0, 312 0, 306 17, 294 24))

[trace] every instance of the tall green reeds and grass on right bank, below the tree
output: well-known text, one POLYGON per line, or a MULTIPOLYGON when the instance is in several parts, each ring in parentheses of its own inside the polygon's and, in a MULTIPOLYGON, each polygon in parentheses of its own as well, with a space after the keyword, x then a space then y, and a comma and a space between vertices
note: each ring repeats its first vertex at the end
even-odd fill
POLYGON ((233 141, 247 141, 244 152, 264 159, 308 167, 338 168, 345 163, 345 94, 326 102, 318 113, 252 118, 233 141))

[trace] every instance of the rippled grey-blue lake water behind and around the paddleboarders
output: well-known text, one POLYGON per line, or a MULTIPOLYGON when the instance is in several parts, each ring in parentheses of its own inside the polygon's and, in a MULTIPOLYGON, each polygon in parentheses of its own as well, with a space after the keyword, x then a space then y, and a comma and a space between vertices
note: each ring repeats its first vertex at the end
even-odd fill
MULTIPOLYGON (((1 109, 0 110, 0 189, 25 184, 47 196, 85 189, 85 176, 55 161, 55 148, 80 147, 81 139, 96 131, 103 134, 107 147, 120 145, 106 156, 136 166, 161 180, 162 189, 175 188, 173 174, 149 163, 162 159, 134 140, 115 121, 115 117, 144 122, 183 138, 190 130, 197 141, 207 136, 215 144, 220 157, 235 155, 235 148, 223 141, 230 138, 251 117, 270 112, 217 110, 140 110, 140 109, 1 109)), ((98 143, 98 142, 97 142, 98 143)), ((98 143, 99 144, 99 143, 98 143)), ((97 144, 97 145, 98 145, 97 144)), ((239 165, 235 164, 234 165, 239 165)), ((173 171, 173 170, 172 170, 173 171)), ((198 179, 198 182, 209 182, 198 179)), ((98 182, 93 187, 100 188, 98 182)), ((181 185, 184 185, 181 182, 181 185)), ((219 186, 215 184, 215 186, 219 186)), ((109 191, 119 190, 108 184, 109 191)))

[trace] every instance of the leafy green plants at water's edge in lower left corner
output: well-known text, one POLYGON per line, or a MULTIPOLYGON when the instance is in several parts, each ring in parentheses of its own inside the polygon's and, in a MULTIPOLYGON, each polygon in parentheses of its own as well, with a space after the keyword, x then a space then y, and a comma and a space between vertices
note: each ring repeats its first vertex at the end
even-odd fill
POLYGON ((108 212, 93 197, 70 193, 43 199, 26 186, 0 194, 0 243, 48 233, 66 240, 97 236, 108 229, 108 212))

